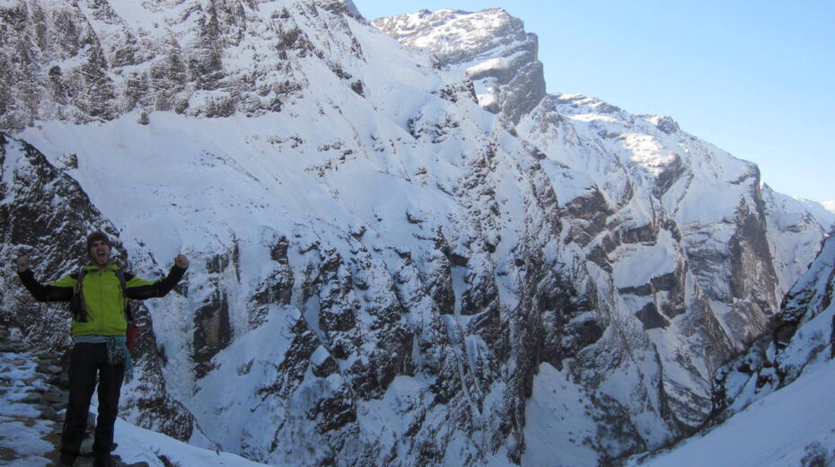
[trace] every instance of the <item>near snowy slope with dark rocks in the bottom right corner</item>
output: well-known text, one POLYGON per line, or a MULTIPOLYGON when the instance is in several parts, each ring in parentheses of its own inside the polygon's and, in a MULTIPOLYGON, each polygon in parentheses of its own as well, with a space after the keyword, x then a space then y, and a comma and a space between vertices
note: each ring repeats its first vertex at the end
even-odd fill
POLYGON ((787 295, 781 323, 720 369, 716 427, 633 465, 832 465, 835 463, 835 241, 787 295))

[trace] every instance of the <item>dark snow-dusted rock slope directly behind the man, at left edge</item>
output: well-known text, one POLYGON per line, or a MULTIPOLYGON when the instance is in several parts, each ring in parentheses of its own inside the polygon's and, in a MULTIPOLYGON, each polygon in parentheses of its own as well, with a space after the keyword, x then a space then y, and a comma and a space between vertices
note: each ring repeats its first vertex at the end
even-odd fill
MULTIPOLYGON (((86 257, 84 234, 79 233, 92 232, 100 225, 105 231, 115 232, 78 183, 48 163, 31 145, 0 134, 0 162, 5 258, 27 254, 37 272, 61 270, 73 274, 86 257)), ((67 157, 66 163, 75 162, 67 157)), ((15 270, 4 268, 0 272, 5 285, 0 296, 4 304, 10 304, 4 308, 4 321, 22 327, 45 344, 66 346, 69 311, 61 307, 56 313, 44 313, 46 310, 33 303, 22 289, 15 270), (16 311, 18 306, 25 311, 16 311)))

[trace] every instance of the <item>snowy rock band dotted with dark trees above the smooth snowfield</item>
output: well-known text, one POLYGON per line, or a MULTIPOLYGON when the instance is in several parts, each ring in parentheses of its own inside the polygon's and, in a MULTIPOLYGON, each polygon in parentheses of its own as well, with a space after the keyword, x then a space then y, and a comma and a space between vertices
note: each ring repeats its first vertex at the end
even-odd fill
POLYGON ((20 130, 38 119, 110 121, 135 110, 140 122, 154 111, 260 115, 279 110, 303 85, 288 51, 319 57, 335 73, 329 50, 362 56, 356 41, 339 37, 342 14, 356 14, 350 2, 270 5, 271 18, 253 21, 258 4, 7 2, 0 6, 0 128, 20 130), (325 24, 320 11, 339 24, 325 24), (312 23, 302 27, 291 12, 312 23), (325 36, 310 37, 308 26, 325 36), (242 51, 236 63, 224 57, 230 49, 242 51))

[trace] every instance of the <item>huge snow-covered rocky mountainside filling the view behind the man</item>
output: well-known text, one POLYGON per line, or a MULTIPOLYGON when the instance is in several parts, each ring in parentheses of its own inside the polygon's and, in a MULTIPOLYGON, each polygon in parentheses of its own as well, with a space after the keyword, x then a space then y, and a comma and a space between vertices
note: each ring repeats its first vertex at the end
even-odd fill
MULTIPOLYGON (((142 277, 188 254, 140 310, 123 415, 253 461, 666 445, 835 223, 668 117, 546 94, 498 9, 385 33, 327 0, 3 0, 0 20, 4 256, 57 278, 94 226, 142 277)), ((66 347, 68 313, 0 280, 4 320, 66 347)))

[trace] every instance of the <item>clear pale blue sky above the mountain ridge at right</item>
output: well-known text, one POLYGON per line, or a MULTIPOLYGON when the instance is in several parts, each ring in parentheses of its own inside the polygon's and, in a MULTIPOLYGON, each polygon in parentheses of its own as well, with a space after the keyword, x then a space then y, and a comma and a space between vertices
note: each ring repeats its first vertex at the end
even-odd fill
POLYGON ((787 195, 835 200, 835 2, 354 0, 369 20, 504 8, 540 40, 549 93, 659 113, 757 163, 787 195))

